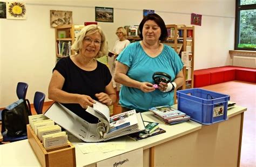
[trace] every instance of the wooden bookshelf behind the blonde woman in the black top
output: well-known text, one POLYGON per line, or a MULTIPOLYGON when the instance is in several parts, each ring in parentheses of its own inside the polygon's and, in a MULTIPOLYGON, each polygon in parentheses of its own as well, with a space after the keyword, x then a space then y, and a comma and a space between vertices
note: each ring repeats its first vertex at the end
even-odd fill
POLYGON ((83 27, 83 25, 71 24, 55 27, 56 61, 63 57, 75 54, 71 51, 71 46, 74 43, 77 34, 83 27))

